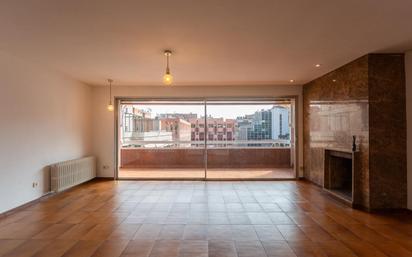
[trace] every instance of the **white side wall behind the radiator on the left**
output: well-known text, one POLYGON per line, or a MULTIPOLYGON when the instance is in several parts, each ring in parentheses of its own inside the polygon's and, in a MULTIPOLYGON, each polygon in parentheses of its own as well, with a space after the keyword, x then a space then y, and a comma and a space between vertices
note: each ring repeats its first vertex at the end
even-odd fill
POLYGON ((91 152, 91 88, 38 66, 0 52, 0 213, 49 191, 47 165, 91 152))

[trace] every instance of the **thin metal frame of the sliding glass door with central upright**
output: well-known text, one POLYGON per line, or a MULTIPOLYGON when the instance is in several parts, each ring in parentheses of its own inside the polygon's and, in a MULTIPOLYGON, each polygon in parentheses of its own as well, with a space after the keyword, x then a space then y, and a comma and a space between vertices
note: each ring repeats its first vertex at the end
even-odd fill
MULTIPOLYGON (((250 181, 277 181, 277 180, 296 180, 299 178, 299 141, 298 135, 301 128, 298 128, 298 100, 299 97, 297 95, 294 96, 279 96, 279 97, 187 97, 187 98, 179 98, 179 97, 115 97, 115 109, 114 109, 114 180, 201 180, 201 181, 240 181, 240 180, 250 180, 250 181), (250 102, 250 101, 278 101, 278 100, 291 100, 291 110, 293 110, 293 114, 291 117, 292 119, 292 126, 294 129, 294 138, 293 138, 293 156, 291 155, 291 159, 293 158, 293 171, 294 171, 294 178, 291 179, 280 179, 280 178, 261 178, 261 179, 237 179, 237 178, 229 178, 229 179, 213 179, 207 177, 207 163, 208 163, 208 156, 207 156, 207 103, 213 101, 228 101, 228 102, 250 102), (120 112, 120 105, 122 101, 136 101, 136 102, 150 102, 150 101, 193 101, 193 102, 203 102, 204 106, 204 123, 205 123, 205 135, 204 135, 204 176, 203 178, 121 178, 119 177, 119 160, 120 160, 120 144, 119 144, 119 112, 120 112)), ((292 141, 292 139, 291 139, 292 141)))

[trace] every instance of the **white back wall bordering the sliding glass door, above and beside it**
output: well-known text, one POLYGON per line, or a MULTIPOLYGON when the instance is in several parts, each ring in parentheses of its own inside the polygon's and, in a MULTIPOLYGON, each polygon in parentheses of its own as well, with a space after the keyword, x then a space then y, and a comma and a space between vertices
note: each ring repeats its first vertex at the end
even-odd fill
MULTIPOLYGON (((113 177, 114 174, 114 113, 106 109, 108 87, 93 87, 93 153, 97 156, 98 176, 113 177), (103 166, 107 166, 104 169, 103 166)), ((301 86, 137 86, 113 87, 116 97, 274 97, 298 96, 299 166, 302 167, 302 87, 301 86)))

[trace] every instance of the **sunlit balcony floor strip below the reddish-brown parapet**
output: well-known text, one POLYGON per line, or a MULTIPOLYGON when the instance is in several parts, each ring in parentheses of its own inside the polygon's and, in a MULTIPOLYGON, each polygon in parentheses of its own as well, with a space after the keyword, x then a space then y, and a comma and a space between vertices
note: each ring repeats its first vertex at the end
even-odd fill
MULTIPOLYGON (((120 168, 119 178, 141 179, 203 179, 204 169, 148 169, 148 168, 120 168)), ((207 178, 219 179, 294 179, 292 168, 233 168, 208 169, 207 178)))

